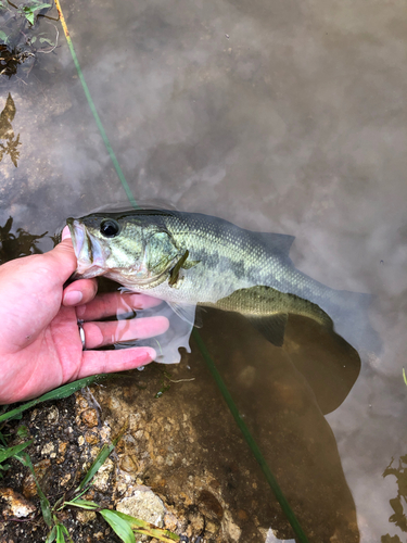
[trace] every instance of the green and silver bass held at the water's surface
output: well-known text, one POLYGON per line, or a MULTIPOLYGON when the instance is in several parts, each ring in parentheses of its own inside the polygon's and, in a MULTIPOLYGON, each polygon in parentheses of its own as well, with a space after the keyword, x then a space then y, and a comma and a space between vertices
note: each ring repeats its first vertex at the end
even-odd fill
POLYGON ((173 210, 101 212, 66 223, 77 257, 74 278, 104 276, 158 298, 191 326, 196 306, 238 312, 281 346, 289 314, 295 314, 356 350, 377 349, 370 294, 335 290, 298 270, 289 256, 293 236, 173 210))

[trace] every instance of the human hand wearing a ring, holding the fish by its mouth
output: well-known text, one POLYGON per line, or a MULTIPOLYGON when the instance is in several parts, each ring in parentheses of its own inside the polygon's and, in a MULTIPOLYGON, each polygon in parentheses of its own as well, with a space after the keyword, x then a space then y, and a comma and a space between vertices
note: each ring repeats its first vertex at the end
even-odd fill
POLYGON ((117 341, 163 333, 162 316, 98 323, 129 310, 161 303, 143 294, 97 295, 96 279, 63 288, 76 269, 71 239, 52 251, 0 266, 0 404, 36 397, 94 374, 123 371, 152 362, 152 348, 91 351, 117 341), (86 349, 78 331, 84 320, 86 349))

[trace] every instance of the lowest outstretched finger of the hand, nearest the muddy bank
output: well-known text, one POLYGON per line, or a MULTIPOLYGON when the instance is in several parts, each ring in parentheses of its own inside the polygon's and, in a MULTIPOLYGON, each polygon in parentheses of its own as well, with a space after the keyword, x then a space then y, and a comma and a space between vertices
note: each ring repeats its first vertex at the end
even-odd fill
POLYGON ((138 368, 153 362, 155 357, 156 353, 150 346, 136 346, 119 351, 85 351, 76 379, 96 374, 138 368))

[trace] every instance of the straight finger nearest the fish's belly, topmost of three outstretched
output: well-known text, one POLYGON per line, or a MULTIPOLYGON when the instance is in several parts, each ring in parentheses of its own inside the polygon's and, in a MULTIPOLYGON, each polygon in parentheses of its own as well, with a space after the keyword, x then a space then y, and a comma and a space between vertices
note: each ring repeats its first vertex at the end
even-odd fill
POLYGON ((123 315, 133 310, 147 310, 160 305, 162 300, 145 294, 122 294, 111 292, 98 295, 92 302, 76 308, 76 315, 82 320, 98 320, 112 315, 123 315))

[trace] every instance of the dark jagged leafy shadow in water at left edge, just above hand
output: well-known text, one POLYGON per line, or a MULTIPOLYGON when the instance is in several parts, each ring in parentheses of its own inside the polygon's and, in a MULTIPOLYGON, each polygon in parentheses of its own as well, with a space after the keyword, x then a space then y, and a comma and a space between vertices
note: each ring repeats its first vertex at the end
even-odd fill
POLYGON ((13 233, 13 217, 9 217, 4 226, 0 226, 0 264, 4 264, 13 258, 27 256, 29 254, 40 254, 37 242, 48 232, 35 236, 23 228, 17 228, 16 235, 13 233))

